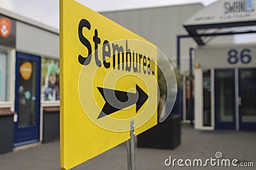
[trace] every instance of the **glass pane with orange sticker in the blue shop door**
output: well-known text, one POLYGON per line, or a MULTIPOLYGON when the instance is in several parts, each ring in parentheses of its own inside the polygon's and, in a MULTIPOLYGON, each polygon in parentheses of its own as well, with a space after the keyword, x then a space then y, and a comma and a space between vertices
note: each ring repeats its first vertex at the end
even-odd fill
POLYGON ((19 59, 19 126, 35 125, 36 61, 19 59))

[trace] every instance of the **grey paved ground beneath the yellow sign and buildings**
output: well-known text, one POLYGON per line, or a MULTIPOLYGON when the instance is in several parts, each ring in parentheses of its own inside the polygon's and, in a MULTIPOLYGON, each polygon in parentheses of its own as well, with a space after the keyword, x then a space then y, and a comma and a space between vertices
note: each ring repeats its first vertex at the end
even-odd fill
MULTIPOLYGON (((256 167, 256 132, 237 131, 196 131, 188 124, 182 124, 182 144, 175 150, 136 148, 136 169, 255 169, 256 167), (239 162, 253 162, 254 167, 206 167, 165 166, 164 160, 173 159, 216 159, 215 153, 221 152, 221 159, 237 159, 239 162)), ((38 145, 26 150, 0 155, 1 170, 53 170, 60 169, 60 143, 55 141, 38 145)), ((220 159, 220 160, 221 160, 220 159)), ((183 162, 183 164, 184 164, 183 162)), ((168 162, 167 162, 168 163, 168 162)), ((187 162, 189 163, 189 162, 187 162)), ((116 146, 108 152, 88 160, 78 169, 127 169, 126 143, 116 146)))

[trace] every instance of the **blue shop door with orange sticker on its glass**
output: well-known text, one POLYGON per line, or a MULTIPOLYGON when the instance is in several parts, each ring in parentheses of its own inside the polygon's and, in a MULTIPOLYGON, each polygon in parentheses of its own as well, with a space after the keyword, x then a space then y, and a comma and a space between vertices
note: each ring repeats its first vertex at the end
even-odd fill
POLYGON ((39 141, 40 57, 16 53, 14 145, 39 141))

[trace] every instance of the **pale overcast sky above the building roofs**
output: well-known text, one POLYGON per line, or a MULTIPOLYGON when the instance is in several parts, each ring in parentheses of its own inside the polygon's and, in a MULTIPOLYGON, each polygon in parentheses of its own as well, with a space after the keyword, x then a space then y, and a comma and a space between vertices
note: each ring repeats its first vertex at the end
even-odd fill
MULTIPOLYGON (((95 11, 147 8, 198 2, 207 6, 214 1, 216 0, 77 0, 77 2, 95 11)), ((6 10, 59 29, 59 0, 0 0, 0 6, 6 10)))

